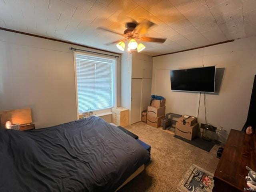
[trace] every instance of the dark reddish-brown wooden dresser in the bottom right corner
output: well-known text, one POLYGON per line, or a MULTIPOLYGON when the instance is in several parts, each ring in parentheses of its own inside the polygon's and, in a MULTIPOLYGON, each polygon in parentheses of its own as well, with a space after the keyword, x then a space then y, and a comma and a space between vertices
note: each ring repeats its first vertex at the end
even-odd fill
POLYGON ((256 136, 231 130, 214 174, 213 192, 244 192, 246 166, 256 171, 256 136))

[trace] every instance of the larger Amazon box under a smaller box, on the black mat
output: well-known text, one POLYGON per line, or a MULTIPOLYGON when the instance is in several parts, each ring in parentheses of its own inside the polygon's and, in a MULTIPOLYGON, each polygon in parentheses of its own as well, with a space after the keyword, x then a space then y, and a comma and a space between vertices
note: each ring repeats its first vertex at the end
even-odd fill
POLYGON ((193 126, 187 126, 180 123, 176 123, 175 134, 188 140, 192 140, 199 131, 199 124, 193 126))

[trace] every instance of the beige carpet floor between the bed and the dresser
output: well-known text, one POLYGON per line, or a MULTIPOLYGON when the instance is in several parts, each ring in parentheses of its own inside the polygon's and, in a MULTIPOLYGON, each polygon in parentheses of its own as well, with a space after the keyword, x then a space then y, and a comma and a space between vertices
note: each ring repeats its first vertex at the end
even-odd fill
POLYGON ((192 164, 214 174, 219 161, 216 158, 218 146, 208 153, 142 122, 126 129, 151 146, 151 162, 120 192, 176 192, 180 180, 192 164))

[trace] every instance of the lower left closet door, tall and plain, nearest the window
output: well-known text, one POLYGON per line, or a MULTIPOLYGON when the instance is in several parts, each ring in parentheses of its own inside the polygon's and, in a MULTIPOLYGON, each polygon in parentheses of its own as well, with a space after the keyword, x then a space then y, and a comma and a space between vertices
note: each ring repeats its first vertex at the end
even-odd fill
POLYGON ((141 88, 142 79, 132 79, 131 124, 141 119, 141 88))

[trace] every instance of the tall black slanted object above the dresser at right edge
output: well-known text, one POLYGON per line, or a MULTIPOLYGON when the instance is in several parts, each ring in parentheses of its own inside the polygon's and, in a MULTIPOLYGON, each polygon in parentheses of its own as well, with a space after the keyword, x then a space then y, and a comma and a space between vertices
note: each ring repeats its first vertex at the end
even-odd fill
POLYGON ((246 120, 243 130, 245 130, 248 126, 252 126, 252 128, 255 130, 255 126, 256 126, 256 75, 254 76, 254 83, 253 83, 253 87, 252 87, 252 96, 251 96, 248 116, 247 116, 247 120, 246 120))

